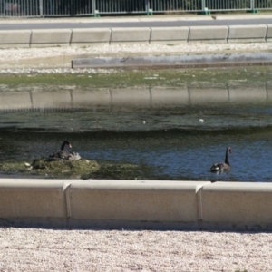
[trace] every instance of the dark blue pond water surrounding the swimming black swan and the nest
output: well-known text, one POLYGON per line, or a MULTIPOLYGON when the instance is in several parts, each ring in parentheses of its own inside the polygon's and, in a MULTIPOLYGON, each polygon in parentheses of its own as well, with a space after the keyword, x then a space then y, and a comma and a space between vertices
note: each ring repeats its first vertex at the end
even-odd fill
MULTIPOLYGON (((146 179, 270 182, 271 113, 267 98, 1 112, 0 162, 47 156, 68 139, 86 159, 150 166, 155 174, 146 179), (211 164, 224 161, 228 146, 232 170, 211 173, 211 164)), ((1 177, 20 174, 2 172, 1 177)))

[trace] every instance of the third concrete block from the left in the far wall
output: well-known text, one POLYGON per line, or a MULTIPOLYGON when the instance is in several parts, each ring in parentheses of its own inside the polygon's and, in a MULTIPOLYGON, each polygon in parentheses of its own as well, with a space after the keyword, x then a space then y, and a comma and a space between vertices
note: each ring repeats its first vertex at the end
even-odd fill
POLYGON ((107 28, 73 29, 71 45, 109 44, 112 30, 107 28))

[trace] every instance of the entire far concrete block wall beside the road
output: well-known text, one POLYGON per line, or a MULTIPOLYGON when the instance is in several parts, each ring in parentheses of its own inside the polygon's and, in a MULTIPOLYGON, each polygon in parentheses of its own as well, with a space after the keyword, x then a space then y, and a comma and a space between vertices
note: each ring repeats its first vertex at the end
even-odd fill
POLYGON ((272 25, 90 28, 0 31, 0 48, 123 43, 271 42, 272 25))

